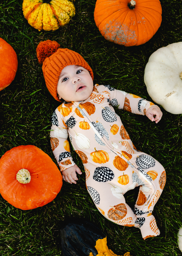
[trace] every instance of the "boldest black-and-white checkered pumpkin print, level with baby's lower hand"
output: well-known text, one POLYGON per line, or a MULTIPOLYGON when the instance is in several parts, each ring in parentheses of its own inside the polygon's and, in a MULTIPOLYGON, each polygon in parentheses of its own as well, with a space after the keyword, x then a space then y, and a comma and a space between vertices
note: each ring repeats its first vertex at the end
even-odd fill
POLYGON ((114 179, 114 172, 106 166, 95 168, 93 179, 98 182, 107 182, 114 179))

